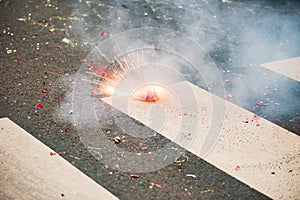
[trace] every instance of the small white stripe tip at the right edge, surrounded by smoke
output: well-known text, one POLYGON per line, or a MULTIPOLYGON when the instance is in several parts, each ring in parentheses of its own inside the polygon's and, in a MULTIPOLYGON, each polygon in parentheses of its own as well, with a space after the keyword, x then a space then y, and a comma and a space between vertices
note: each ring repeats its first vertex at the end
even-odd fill
POLYGON ((300 81, 300 57, 264 63, 261 66, 300 81))

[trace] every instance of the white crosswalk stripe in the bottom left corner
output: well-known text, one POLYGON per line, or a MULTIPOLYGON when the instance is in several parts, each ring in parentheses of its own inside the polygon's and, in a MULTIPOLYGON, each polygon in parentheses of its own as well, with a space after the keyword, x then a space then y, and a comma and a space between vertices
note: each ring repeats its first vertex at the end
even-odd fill
POLYGON ((0 119, 0 199, 117 199, 50 152, 8 118, 0 119))

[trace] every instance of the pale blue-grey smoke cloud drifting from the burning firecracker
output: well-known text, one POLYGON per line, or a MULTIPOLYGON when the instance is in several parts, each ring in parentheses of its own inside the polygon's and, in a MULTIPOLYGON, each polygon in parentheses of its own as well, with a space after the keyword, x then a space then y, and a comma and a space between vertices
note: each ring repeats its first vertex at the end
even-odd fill
MULTIPOLYGON (((120 166, 127 166, 122 170, 133 172, 159 169, 179 154, 169 151, 174 146, 164 141, 167 148, 162 146, 153 153, 163 163, 153 165, 154 157, 148 154, 140 158, 145 162, 150 159, 152 165, 143 165, 132 152, 125 152, 128 160, 118 157, 120 150, 105 142, 107 133, 99 127, 117 123, 119 131, 126 132, 124 137, 150 138, 152 143, 161 138, 99 100, 99 77, 89 74, 93 68, 107 70, 116 61, 131 69, 135 66, 114 85, 130 94, 148 82, 168 88, 171 83, 187 80, 222 98, 231 94, 227 100, 266 118, 297 115, 299 83, 259 64, 299 56, 299 8, 293 1, 79 0, 74 3, 70 31, 90 52, 73 77, 75 96, 66 96, 59 113, 66 119, 71 112, 71 122, 77 125, 82 141, 93 146, 95 157, 112 162, 112 166, 119 166, 121 160, 120 166)), ((165 117, 161 108, 159 114, 165 117)), ((220 118, 212 120, 217 124, 211 126, 221 128, 222 116, 214 117, 220 118)), ((217 135, 212 135, 216 141, 217 135)))

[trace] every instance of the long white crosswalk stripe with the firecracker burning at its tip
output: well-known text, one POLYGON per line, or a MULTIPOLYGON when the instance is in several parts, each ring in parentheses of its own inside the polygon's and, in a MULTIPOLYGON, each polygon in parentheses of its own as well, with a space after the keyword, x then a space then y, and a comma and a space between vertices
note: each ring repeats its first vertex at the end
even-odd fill
MULTIPOLYGON (((225 106, 223 129, 213 150, 204 159, 273 199, 299 198, 300 137, 265 119, 252 121, 253 113, 191 83, 179 82, 170 87, 176 88, 176 91, 173 91, 176 94, 181 93, 182 96, 185 96, 185 88, 191 87, 198 99, 199 109, 189 108, 192 96, 186 96, 180 105, 175 96, 168 92, 164 92, 163 99, 155 103, 136 101, 124 96, 107 97, 102 100, 198 156, 201 156, 199 152, 204 142, 203 138, 206 138, 210 127, 213 107, 223 104, 225 106), (213 105, 212 102, 214 102, 213 105), (160 105, 164 109, 164 118, 161 119, 165 121, 163 126, 152 123, 161 121, 154 119, 159 118, 159 115, 154 113, 151 117, 149 114, 154 105, 160 105), (182 110, 188 111, 181 113, 182 110), (177 137, 181 114, 199 122, 199 129, 192 144, 177 137), (247 119, 249 123, 245 123, 247 119), (257 126, 258 123, 260 126, 257 126), (236 170, 236 166, 239 166, 240 170, 236 170)), ((214 115, 222 115, 222 111, 214 115)), ((190 127, 190 125, 185 126, 190 127)), ((187 134, 189 130, 186 128, 181 131, 187 134)))

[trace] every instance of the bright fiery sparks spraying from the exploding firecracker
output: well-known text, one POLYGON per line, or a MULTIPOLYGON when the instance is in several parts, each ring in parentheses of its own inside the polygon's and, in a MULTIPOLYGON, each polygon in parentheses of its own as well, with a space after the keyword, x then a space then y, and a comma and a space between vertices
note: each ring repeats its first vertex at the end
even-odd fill
MULTIPOLYGON (((122 54, 118 45, 111 47, 112 55, 104 54, 98 47, 96 47, 98 55, 103 59, 104 63, 99 63, 98 66, 89 66, 89 71, 85 73, 91 78, 82 78, 81 80, 95 84, 100 94, 104 96, 115 96, 129 94, 123 89, 117 89, 119 82, 126 78, 130 73, 135 75, 137 82, 142 80, 143 76, 139 69, 139 64, 142 60, 144 52, 141 55, 135 52, 122 54), (121 56, 119 56, 121 55, 121 56)), ((134 81, 135 82, 135 81, 134 81)), ((153 84, 147 89, 139 91, 137 94, 130 94, 135 96, 135 99, 144 102, 158 101, 157 87, 153 84)))

